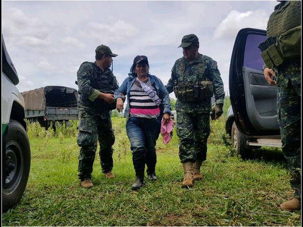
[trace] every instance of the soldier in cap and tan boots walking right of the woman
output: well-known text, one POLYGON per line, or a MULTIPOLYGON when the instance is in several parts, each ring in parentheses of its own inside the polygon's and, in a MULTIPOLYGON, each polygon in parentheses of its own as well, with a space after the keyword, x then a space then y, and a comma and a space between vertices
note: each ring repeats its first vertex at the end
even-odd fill
POLYGON ((198 52, 196 35, 185 35, 179 47, 183 48, 183 57, 175 62, 166 88, 177 98, 176 129, 185 175, 182 186, 191 187, 194 180, 202 178, 200 166, 206 160, 211 131, 211 97, 215 95, 213 112, 214 119, 218 119, 223 113, 225 92, 217 62, 198 52))

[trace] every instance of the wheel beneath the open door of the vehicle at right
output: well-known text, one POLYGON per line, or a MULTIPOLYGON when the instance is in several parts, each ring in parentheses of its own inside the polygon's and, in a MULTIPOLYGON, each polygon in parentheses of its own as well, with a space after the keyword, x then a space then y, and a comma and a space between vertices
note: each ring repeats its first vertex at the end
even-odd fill
POLYGON ((252 149, 245 146, 245 138, 238 130, 235 122, 231 127, 231 143, 236 149, 237 155, 240 155, 242 159, 251 157, 252 149))

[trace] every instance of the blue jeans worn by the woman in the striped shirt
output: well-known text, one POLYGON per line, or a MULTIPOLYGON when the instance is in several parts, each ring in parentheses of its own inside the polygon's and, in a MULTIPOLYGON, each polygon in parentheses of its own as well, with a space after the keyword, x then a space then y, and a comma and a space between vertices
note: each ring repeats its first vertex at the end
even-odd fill
POLYGON ((157 163, 156 141, 160 134, 161 124, 157 119, 129 118, 126 122, 126 133, 130 141, 135 171, 154 173, 157 163))

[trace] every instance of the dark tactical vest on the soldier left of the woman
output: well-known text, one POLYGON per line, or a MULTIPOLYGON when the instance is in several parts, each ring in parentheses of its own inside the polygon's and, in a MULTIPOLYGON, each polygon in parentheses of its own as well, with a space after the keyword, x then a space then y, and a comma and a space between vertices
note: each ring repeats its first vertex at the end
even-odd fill
MULTIPOLYGON (((100 92, 114 94, 115 92, 115 84, 114 84, 114 75, 111 72, 110 74, 101 73, 95 66, 94 63, 84 62, 83 64, 91 64, 91 68, 93 73, 90 77, 90 86, 100 92)), ((100 109, 100 110, 112 110, 116 108, 116 101, 113 103, 107 103, 105 100, 101 98, 96 98, 91 101, 87 96, 79 93, 80 101, 92 108, 100 109)))

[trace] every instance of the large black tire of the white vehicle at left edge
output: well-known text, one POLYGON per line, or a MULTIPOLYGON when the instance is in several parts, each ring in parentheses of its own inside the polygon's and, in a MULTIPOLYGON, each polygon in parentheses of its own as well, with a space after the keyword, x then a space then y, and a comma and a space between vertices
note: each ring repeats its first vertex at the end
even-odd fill
POLYGON ((2 185, 2 212, 22 198, 30 171, 30 144, 23 126, 14 120, 8 125, 5 184, 2 185))

